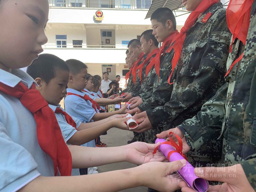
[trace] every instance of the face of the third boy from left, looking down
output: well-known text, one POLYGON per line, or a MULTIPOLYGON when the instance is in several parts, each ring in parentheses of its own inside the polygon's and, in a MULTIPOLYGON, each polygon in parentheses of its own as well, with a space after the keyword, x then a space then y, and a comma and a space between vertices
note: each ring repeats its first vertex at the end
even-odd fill
POLYGON ((77 91, 82 91, 87 84, 87 69, 83 68, 79 73, 72 76, 72 87, 77 91))

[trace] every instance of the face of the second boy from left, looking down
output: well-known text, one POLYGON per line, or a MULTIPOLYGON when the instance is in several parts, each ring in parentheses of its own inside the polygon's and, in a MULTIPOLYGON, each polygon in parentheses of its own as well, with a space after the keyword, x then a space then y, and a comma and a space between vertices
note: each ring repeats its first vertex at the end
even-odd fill
POLYGON ((58 105, 63 97, 65 97, 68 78, 68 71, 61 71, 48 84, 44 81, 38 83, 40 85, 38 89, 48 103, 58 105))

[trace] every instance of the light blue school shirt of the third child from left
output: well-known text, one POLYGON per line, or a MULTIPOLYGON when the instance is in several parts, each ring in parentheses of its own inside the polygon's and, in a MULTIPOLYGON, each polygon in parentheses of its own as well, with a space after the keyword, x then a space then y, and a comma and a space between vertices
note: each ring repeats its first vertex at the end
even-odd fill
MULTIPOLYGON (((76 91, 75 89, 68 88, 67 93, 74 93, 84 97, 85 92, 76 91)), ((92 120, 92 117, 96 114, 94 108, 92 108, 92 103, 86 101, 83 98, 80 98, 76 95, 67 95, 65 100, 65 110, 66 112, 79 119, 83 123, 89 123, 92 120)), ((95 147, 95 141, 89 141, 88 143, 83 144, 85 147, 95 147)))

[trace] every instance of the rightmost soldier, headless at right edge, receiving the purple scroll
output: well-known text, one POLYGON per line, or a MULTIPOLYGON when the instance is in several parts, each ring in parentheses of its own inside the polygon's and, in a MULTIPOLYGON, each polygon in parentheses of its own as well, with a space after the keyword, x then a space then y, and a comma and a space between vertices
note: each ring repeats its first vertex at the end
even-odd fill
MULTIPOLYGON (((183 153, 189 150, 197 152, 207 148, 205 146, 212 148, 216 136, 223 138, 221 163, 226 168, 195 169, 202 178, 225 182, 222 186, 211 187, 213 191, 219 191, 220 187, 223 191, 256 190, 255 7, 253 0, 230 1, 227 22, 233 36, 226 83, 203 105, 197 116, 157 135, 165 138, 170 131, 178 134, 183 141, 183 153), (218 178, 213 173, 218 173, 218 178)), ((191 191, 182 186, 184 191, 191 191)))

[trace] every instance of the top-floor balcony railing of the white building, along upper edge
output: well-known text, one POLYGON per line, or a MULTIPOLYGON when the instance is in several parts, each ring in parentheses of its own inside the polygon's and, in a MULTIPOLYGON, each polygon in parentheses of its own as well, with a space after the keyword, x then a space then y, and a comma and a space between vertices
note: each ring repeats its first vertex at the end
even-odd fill
POLYGON ((152 0, 48 0, 52 7, 149 9, 152 0))

